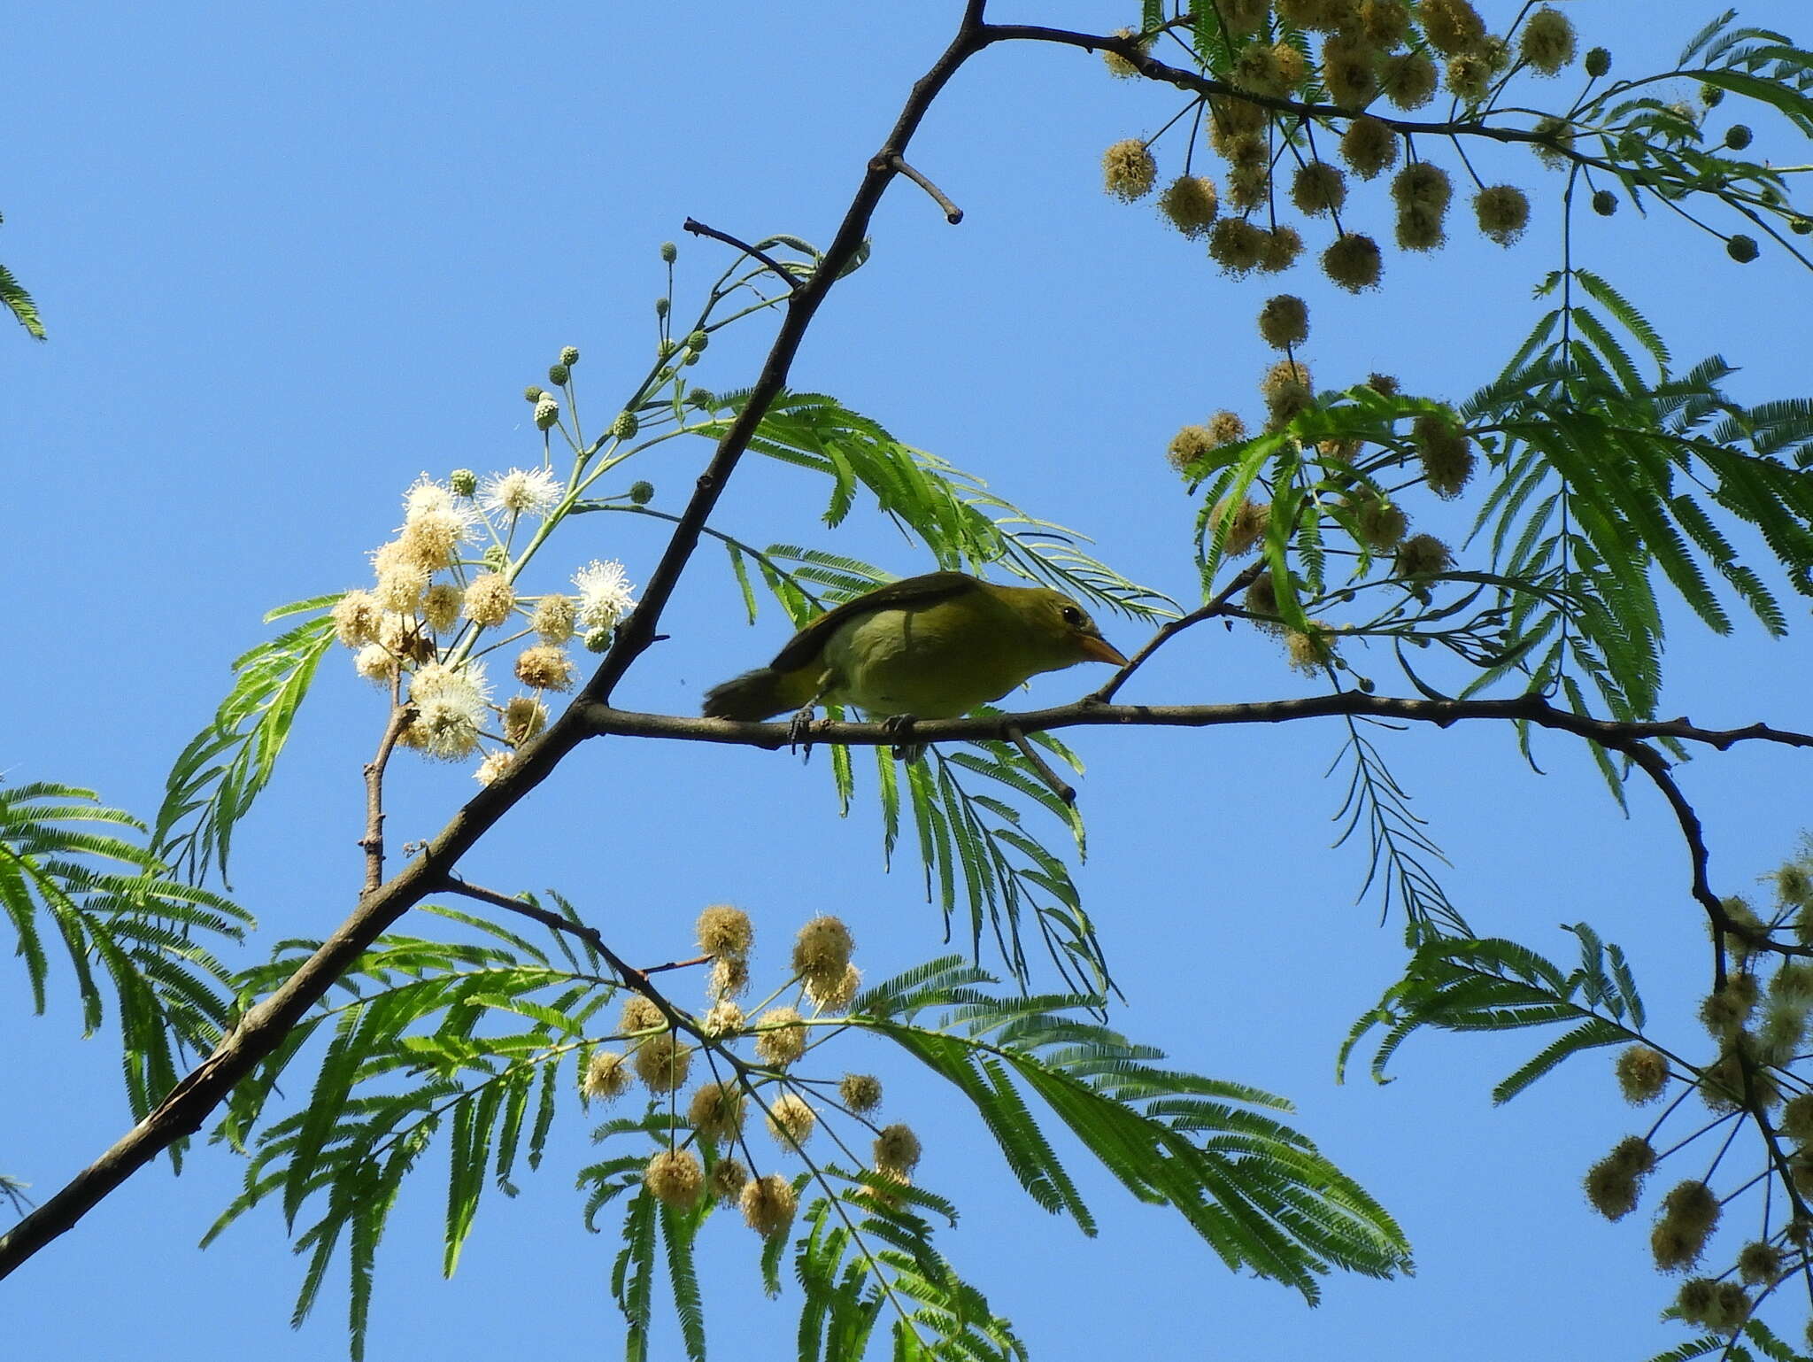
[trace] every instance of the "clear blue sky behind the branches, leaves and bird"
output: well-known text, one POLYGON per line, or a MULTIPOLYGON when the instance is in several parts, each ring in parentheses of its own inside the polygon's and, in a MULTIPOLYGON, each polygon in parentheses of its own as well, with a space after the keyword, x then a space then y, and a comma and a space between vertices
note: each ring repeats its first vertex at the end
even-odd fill
MULTIPOLYGON (((1059 0, 992 9, 1097 29, 1137 15, 1059 0)), ((1668 60, 1711 13, 1568 9, 1586 42, 1612 45, 1619 71, 1668 60)), ((1791 27, 1795 9, 1773 0, 1744 18, 1791 27)), ((520 388, 564 345, 584 354, 593 417, 609 410, 654 343, 658 245, 680 239, 678 312, 725 263, 718 247, 682 238, 689 214, 745 239, 827 241, 955 11, 941 0, 684 15, 16 13, 0 94, 13 129, 0 147, 0 259, 36 294, 53 339, 0 346, 5 555, 25 588, 0 680, 15 716, 0 745, 7 780, 91 785, 149 814, 170 758, 225 693, 228 660, 263 637, 261 613, 359 584, 417 472, 535 459, 520 388)), ((1494 22, 1508 13, 1488 7, 1494 22)), ((1209 410, 1256 412, 1269 352, 1253 316, 1273 288, 1227 281, 1149 207, 1099 192, 1100 149, 1173 111, 1164 91, 1111 82, 1075 51, 1008 45, 972 63, 912 154, 965 207, 963 225, 912 187, 890 189, 874 258, 832 294, 794 386, 836 394, 1026 510, 1088 531, 1129 577, 1188 598, 1195 504, 1164 446, 1209 410)), ((1537 316, 1532 285, 1557 265, 1543 196, 1559 180, 1496 154, 1483 158, 1499 178, 1537 196, 1519 247, 1461 229, 1438 256, 1391 254, 1387 288, 1365 297, 1331 296, 1313 267, 1284 277, 1311 301, 1307 357, 1323 386, 1385 368, 1458 399, 1498 372, 1537 316)), ((1362 201, 1389 234, 1378 192, 1362 201)), ((1809 279, 1798 267, 1766 252, 1740 270, 1715 241, 1628 210, 1586 219, 1575 248, 1682 361, 1724 354, 1742 366, 1733 386, 1746 399, 1804 390, 1809 279)), ((725 334, 698 381, 749 383, 765 343, 761 321, 725 334)), ((705 453, 671 443, 635 472, 654 482, 656 506, 678 510, 705 453)), ((872 517, 825 530, 823 495, 798 470, 745 461, 714 524, 897 573, 930 566, 872 517)), ((616 557, 642 582, 660 550, 653 530, 586 517, 560 560, 616 557)), ((1806 615, 1789 611, 1788 642, 1744 624, 1715 640, 1679 618, 1663 711, 1813 725, 1806 615)), ((1106 627, 1128 651, 1139 642, 1124 620, 1106 627)), ((622 704, 694 713, 705 686, 785 635, 772 609, 743 626, 711 553, 664 631, 671 640, 638 664, 622 704)), ((1091 680, 1046 676, 1028 702, 1091 680)), ((1275 644, 1213 629, 1160 655, 1124 698, 1307 689, 1275 644)), ((348 910, 359 767, 381 724, 335 655, 236 851, 234 889, 261 941, 325 934, 348 910)), ((1663 1034, 1688 1039, 1704 947, 1659 802, 1639 791, 1623 818, 1585 756, 1557 740, 1539 742, 1545 774, 1534 774, 1503 731, 1389 736, 1474 925, 1566 956, 1556 925, 1592 921, 1630 950, 1652 1014, 1672 1019, 1663 1034)), ((1180 1066, 1294 1099, 1298 1124, 1398 1215, 1418 1275, 1331 1279, 1311 1311, 1278 1286, 1231 1277, 1180 1224, 1104 1179, 1084 1182, 1102 1222, 1086 1240, 1012 1188, 975 1121, 888 1059, 888 1112, 921 1130, 923 1181, 965 1208, 945 1250, 1046 1358, 1644 1358, 1679 1342, 1677 1326, 1655 1320, 1668 1286, 1648 1268, 1644 1217, 1606 1226, 1577 1192, 1586 1164, 1634 1126, 1608 1061, 1577 1061, 1505 1110, 1490 1108, 1488 1088, 1534 1048, 1528 1037, 1418 1041, 1391 1086, 1333 1083, 1340 1037, 1400 956, 1398 923, 1380 927, 1372 903, 1354 903, 1360 852, 1327 845, 1340 789, 1323 771, 1338 742, 1327 724, 1075 735, 1090 765, 1079 883, 1129 999, 1117 1025, 1180 1066)), ((1721 892, 1779 863, 1809 822, 1806 765, 1782 753, 1706 756, 1682 783, 1706 818, 1721 892)), ((431 834, 470 789, 464 769, 399 764, 393 840, 431 834)), ((560 889, 631 959, 684 952, 696 910, 718 900, 756 916, 771 963, 819 912, 852 925, 872 976, 941 949, 910 856, 881 874, 872 805, 839 822, 825 764, 801 769, 785 754, 591 744, 464 871, 506 890, 560 889)), ((0 1007, 13 1095, 0 1170, 40 1193, 125 1128, 112 1041, 76 1039, 63 985, 34 1019, 15 972, 0 1007)), ((451 1284, 439 1275, 444 1155, 424 1163, 381 1259, 373 1358, 620 1346, 613 1242, 580 1228, 571 1192, 591 1157, 587 1128, 564 1115, 542 1175, 515 1201, 486 1202, 451 1284)), ((232 1157, 198 1148, 181 1179, 158 1168, 109 1199, 9 1282, 13 1355, 341 1355, 341 1277, 305 1329, 286 1326, 299 1264, 276 1211, 194 1248, 238 1173, 232 1157)), ((705 1239, 714 1346, 731 1358, 789 1355, 794 1313, 760 1297, 754 1237, 725 1217, 705 1239)))

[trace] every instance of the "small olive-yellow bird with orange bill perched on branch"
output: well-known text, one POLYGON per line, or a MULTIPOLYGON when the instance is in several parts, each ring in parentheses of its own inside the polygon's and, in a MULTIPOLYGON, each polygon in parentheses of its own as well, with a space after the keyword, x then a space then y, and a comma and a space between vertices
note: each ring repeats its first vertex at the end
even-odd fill
MULTIPOLYGON (((1128 660, 1062 591, 923 573, 825 611, 769 666, 705 691, 703 713, 763 720, 792 709, 796 740, 819 704, 856 705, 906 727, 966 715, 1028 676, 1079 662, 1128 660)), ((917 756, 914 745, 896 751, 917 756)))

